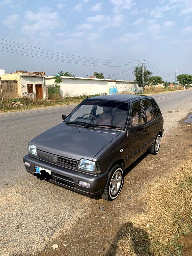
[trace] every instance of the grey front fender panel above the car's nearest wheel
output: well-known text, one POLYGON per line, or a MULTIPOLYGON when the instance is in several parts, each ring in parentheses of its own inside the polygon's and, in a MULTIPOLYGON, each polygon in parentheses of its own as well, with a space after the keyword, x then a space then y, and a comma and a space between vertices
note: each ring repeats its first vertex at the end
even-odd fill
POLYGON ((94 158, 100 166, 101 172, 111 169, 111 166, 120 159, 127 158, 128 139, 127 133, 121 132, 114 140, 106 145, 94 158), (120 150, 123 149, 123 152, 120 150))

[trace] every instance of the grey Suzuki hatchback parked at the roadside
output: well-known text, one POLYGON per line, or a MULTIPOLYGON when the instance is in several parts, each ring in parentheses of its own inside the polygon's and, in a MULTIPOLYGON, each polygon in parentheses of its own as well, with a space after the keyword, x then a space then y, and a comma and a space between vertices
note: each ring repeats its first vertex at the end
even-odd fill
POLYGON ((142 95, 101 95, 83 100, 63 122, 28 144, 27 172, 87 196, 114 200, 124 170, 146 151, 159 152, 163 117, 142 95))

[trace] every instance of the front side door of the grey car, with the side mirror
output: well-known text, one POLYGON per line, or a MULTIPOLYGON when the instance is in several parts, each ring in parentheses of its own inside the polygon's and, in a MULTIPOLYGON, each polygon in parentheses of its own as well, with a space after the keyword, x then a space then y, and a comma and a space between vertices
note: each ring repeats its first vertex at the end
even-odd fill
POLYGON ((128 127, 128 165, 144 154, 148 142, 148 125, 146 124, 144 108, 140 100, 132 103, 131 118, 128 127), (134 124, 142 124, 143 131, 132 132, 134 124))

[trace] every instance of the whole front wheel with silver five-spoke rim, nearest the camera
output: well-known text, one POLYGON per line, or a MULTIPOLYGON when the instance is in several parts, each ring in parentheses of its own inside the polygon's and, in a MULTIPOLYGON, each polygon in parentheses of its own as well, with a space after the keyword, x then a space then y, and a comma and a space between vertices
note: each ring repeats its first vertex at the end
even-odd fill
POLYGON ((122 166, 116 164, 109 172, 108 180, 101 197, 108 201, 114 200, 119 195, 123 187, 123 182, 124 174, 122 166))

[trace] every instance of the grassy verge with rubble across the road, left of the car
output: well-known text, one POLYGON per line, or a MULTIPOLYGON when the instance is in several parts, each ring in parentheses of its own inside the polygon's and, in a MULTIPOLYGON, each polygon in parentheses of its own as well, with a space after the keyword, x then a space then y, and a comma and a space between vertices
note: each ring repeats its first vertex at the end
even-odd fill
POLYGON ((22 97, 18 99, 4 99, 4 110, 3 110, 3 103, 1 100, 0 112, 79 103, 82 100, 86 99, 87 97, 93 97, 98 95, 99 94, 81 95, 81 96, 75 96, 75 97, 66 95, 66 97, 64 98, 56 98, 55 100, 37 100, 36 98, 28 98, 28 97, 22 97))

